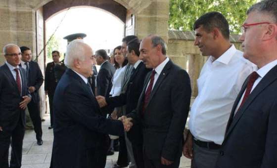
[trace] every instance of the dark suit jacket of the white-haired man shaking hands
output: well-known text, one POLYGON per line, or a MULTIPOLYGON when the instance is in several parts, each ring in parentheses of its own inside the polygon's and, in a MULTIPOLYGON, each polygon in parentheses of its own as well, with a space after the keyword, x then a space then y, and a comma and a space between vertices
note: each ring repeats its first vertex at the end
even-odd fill
POLYGON ((95 158, 106 134, 124 134, 120 121, 101 115, 94 95, 71 69, 56 87, 53 110, 53 168, 96 168, 95 158))

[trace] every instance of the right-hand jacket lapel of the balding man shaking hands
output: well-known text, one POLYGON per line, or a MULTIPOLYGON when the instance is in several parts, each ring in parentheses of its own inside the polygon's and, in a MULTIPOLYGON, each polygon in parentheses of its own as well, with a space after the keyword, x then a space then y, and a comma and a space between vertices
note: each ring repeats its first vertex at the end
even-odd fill
MULTIPOLYGON (((154 85, 154 88, 151 91, 150 99, 148 101, 148 104, 150 103, 151 99, 153 98, 153 96, 157 92, 160 84, 163 82, 165 77, 168 75, 168 72, 169 72, 169 69, 171 68, 171 65, 172 65, 172 62, 169 60, 168 63, 165 65, 164 69, 162 70, 161 74, 159 75, 159 77, 158 77, 158 79, 157 79, 157 81, 156 81, 156 83, 154 85)), ((148 104, 147 104, 147 106, 148 106, 148 104)), ((147 106, 146 106, 146 108, 147 108, 147 106)))

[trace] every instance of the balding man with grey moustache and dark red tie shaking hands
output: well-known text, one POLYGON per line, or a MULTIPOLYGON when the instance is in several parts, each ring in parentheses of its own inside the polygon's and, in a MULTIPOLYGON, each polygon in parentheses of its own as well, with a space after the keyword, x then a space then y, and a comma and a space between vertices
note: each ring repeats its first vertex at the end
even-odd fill
MULTIPOLYGON (((185 70, 166 56, 166 44, 158 36, 142 40, 139 58, 153 68, 145 78, 137 109, 121 119, 142 123, 146 168, 178 168, 183 130, 190 103, 190 80, 185 70)), ((128 129, 126 129, 128 130, 128 129)))

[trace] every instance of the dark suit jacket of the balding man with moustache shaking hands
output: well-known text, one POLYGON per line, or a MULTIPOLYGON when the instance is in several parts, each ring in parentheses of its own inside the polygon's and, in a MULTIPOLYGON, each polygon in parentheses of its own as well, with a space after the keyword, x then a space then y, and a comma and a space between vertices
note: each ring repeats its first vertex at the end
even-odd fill
POLYGON ((182 155, 182 139, 190 103, 190 80, 185 70, 169 61, 154 85, 142 115, 151 72, 147 74, 138 107, 128 114, 134 125, 142 122, 144 154, 149 159, 175 161, 182 155))

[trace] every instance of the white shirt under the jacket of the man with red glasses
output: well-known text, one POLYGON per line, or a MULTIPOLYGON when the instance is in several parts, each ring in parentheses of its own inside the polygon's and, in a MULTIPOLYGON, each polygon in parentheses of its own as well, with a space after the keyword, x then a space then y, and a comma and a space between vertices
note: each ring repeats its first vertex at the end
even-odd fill
MULTIPOLYGON (((277 65, 277 60, 274 60, 274 61, 268 63, 267 65, 263 66, 262 68, 260 68, 259 70, 256 71, 257 74, 259 75, 259 77, 258 77, 257 80, 254 82, 254 84, 253 84, 253 86, 252 86, 252 88, 251 88, 250 93, 251 93, 251 92, 254 90, 254 88, 260 83, 260 81, 264 78, 264 76, 266 76, 267 73, 268 73, 273 67, 275 67, 276 65, 277 65)), ((236 114, 236 112, 237 112, 237 110, 238 110, 238 108, 239 108, 239 106, 240 106, 240 104, 241 104, 241 102, 242 102, 242 98, 244 97, 245 91, 246 91, 246 88, 245 88, 244 93, 242 94, 242 96, 241 96, 241 98, 240 98, 240 100, 239 100, 239 102, 238 102, 238 104, 237 104, 237 106, 236 106, 236 109, 235 109, 235 113, 234 113, 234 114, 236 114)))

